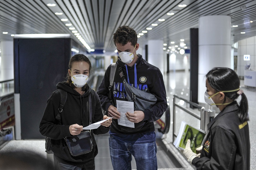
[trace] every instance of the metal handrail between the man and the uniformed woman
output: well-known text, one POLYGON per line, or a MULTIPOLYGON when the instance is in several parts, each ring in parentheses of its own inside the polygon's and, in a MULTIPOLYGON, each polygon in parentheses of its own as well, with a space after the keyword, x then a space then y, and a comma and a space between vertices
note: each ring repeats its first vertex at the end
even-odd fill
POLYGON ((197 103, 191 102, 191 101, 189 101, 187 99, 181 98, 181 97, 179 97, 177 95, 173 95, 173 141, 174 141, 174 137, 177 137, 177 134, 175 133, 175 106, 179 107, 180 109, 182 109, 186 113, 189 113, 190 115, 192 115, 192 116, 196 117, 197 119, 201 120, 201 122, 200 122, 200 129, 205 130, 204 129, 205 107, 203 107, 203 106, 201 106, 201 105, 199 105, 197 103), (193 105, 194 107, 201 109, 201 116, 199 116, 199 115, 195 114, 194 112, 188 110, 187 108, 179 105, 178 103, 175 103, 175 98, 183 100, 184 102, 189 103, 189 104, 193 105))

